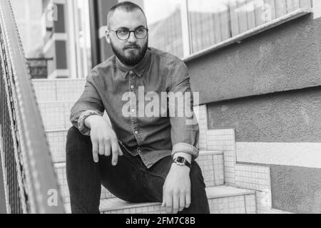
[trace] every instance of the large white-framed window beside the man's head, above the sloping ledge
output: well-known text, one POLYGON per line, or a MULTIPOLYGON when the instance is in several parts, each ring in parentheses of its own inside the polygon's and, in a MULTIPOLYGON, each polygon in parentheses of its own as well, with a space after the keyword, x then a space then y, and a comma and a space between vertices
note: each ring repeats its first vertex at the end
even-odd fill
POLYGON ((311 0, 141 0, 150 46, 183 58, 300 8, 311 0))

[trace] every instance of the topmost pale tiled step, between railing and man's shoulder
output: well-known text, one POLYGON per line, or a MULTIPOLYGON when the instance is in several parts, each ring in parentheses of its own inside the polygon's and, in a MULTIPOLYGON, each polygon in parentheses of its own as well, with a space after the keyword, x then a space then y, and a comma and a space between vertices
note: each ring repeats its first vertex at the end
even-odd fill
POLYGON ((33 80, 36 98, 42 101, 78 100, 83 92, 85 79, 33 80))

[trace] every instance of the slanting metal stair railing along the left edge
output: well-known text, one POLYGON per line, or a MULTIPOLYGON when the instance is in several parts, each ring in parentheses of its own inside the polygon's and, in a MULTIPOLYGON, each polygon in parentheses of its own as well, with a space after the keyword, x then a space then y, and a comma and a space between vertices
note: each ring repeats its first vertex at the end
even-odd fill
POLYGON ((0 0, 0 61, 0 153, 6 211, 63 213, 49 144, 9 0, 0 0))

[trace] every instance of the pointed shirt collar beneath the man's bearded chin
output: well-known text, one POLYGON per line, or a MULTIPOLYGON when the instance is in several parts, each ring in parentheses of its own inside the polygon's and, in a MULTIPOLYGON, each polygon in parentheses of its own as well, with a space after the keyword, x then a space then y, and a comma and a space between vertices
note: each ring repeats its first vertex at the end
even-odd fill
POLYGON ((143 76, 143 73, 145 73, 146 69, 148 68, 149 64, 151 63, 151 51, 150 51, 150 48, 148 48, 144 58, 141 60, 140 63, 138 63, 133 68, 128 68, 128 67, 124 66, 123 63, 121 63, 121 61, 119 61, 116 56, 115 56, 115 58, 116 58, 116 66, 121 70, 121 76, 123 78, 126 78, 126 76, 128 76, 128 73, 130 71, 133 71, 134 73, 136 73, 136 75, 138 77, 141 78, 143 76))

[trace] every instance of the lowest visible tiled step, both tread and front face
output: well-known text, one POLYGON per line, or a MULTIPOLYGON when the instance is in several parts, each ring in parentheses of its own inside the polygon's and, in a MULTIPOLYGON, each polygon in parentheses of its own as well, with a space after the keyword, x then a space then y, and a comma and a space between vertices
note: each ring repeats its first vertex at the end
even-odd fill
MULTIPOLYGON (((255 191, 235 187, 207 187, 211 214, 256 214, 255 191)), ((70 213, 70 204, 65 204, 70 213)), ((160 203, 132 204, 118 198, 102 199, 103 214, 164 214, 160 203)))

